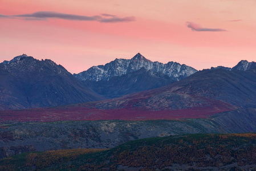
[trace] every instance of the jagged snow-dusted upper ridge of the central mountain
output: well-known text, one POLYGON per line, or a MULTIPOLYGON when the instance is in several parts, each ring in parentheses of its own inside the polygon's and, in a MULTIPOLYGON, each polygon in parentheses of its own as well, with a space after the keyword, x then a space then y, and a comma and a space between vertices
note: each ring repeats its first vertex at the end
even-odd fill
POLYGON ((152 62, 138 53, 132 59, 115 59, 104 66, 94 66, 87 71, 74 74, 74 76, 79 80, 109 80, 113 76, 121 76, 140 70, 141 68, 152 70, 153 73, 160 72, 176 80, 180 80, 197 72, 196 69, 186 66, 185 64, 181 65, 176 62, 168 62, 166 64, 152 62))

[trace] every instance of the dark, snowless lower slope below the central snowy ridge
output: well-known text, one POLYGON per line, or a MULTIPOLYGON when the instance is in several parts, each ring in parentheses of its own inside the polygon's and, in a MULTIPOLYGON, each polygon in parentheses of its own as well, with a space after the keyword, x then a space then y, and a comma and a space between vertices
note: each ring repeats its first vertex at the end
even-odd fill
POLYGON ((172 79, 161 72, 153 73, 152 70, 141 68, 129 74, 113 76, 109 80, 99 80, 97 82, 86 80, 83 82, 100 95, 112 99, 129 93, 163 87, 176 82, 176 79, 172 79))

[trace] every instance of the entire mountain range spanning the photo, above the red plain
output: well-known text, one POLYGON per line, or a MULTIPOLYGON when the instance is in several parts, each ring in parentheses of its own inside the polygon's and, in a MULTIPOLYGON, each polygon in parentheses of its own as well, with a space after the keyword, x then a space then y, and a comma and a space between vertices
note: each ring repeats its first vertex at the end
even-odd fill
POLYGON ((233 68, 197 72, 185 64, 151 62, 136 54, 72 75, 51 60, 23 54, 0 64, 0 109, 55 107, 127 94, 90 105, 151 111, 209 107, 210 113, 255 107, 255 68, 255 62, 242 60, 233 68))

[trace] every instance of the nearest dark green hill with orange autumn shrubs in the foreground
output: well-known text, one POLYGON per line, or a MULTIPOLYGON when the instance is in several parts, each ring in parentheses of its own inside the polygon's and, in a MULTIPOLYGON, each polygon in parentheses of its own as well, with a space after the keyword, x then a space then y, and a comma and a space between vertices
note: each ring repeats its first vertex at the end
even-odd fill
POLYGON ((89 154, 82 149, 71 154, 68 150, 22 154, 0 160, 0 169, 250 170, 256 166, 255 139, 255 133, 151 138, 89 154))

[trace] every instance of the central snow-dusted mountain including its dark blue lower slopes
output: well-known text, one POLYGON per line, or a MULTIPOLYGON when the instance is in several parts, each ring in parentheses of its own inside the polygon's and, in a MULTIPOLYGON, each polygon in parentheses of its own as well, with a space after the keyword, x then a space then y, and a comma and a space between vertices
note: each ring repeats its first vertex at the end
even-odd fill
POLYGON ((151 62, 140 53, 132 59, 115 59, 104 66, 94 66, 74 74, 86 86, 111 99, 129 93, 166 86, 197 72, 176 62, 151 62))

